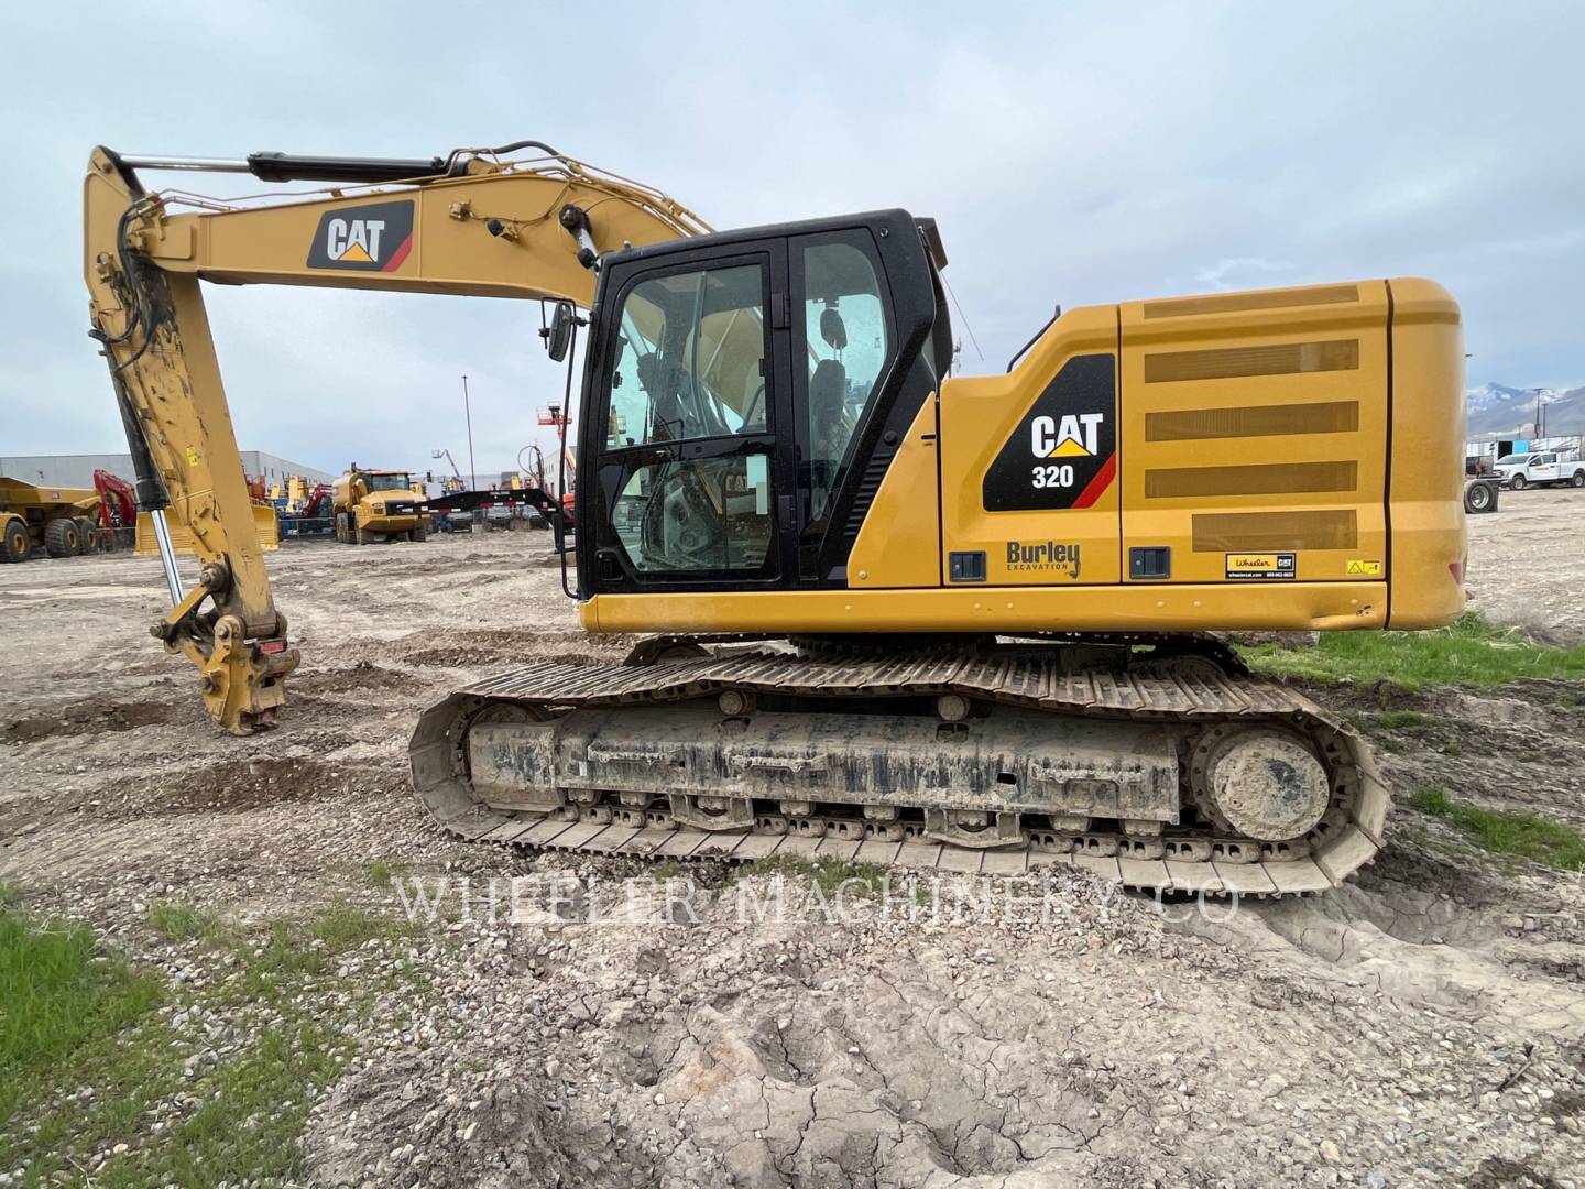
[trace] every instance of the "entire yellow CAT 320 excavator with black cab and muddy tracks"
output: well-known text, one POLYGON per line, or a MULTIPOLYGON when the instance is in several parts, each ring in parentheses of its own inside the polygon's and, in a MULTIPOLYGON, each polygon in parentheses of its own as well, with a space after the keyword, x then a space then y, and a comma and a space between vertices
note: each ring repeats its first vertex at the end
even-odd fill
POLYGON ((155 634, 223 728, 276 720, 298 652, 249 531, 201 281, 548 301, 567 409, 586 328, 569 594, 588 631, 650 637, 626 664, 536 663, 428 709, 412 778, 442 828, 1338 885, 1385 831, 1368 747, 1209 633, 1461 612, 1457 304, 1419 279, 1122 301, 1054 317, 1005 374, 957 377, 945 266, 934 220, 905 211, 715 231, 536 141, 95 149, 92 333, 139 504, 174 510, 203 561, 182 590, 166 552, 155 634), (146 190, 162 170, 322 189, 146 190))

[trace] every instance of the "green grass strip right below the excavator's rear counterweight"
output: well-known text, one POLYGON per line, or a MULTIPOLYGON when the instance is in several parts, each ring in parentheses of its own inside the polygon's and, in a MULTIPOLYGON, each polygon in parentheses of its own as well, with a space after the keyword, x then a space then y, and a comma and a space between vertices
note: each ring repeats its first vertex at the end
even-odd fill
POLYGON ((1436 631, 1331 631, 1309 648, 1260 644, 1239 652, 1257 672, 1328 685, 1388 682, 1404 690, 1428 685, 1487 690, 1520 677, 1585 679, 1585 644, 1569 648, 1531 644, 1474 612, 1436 631))

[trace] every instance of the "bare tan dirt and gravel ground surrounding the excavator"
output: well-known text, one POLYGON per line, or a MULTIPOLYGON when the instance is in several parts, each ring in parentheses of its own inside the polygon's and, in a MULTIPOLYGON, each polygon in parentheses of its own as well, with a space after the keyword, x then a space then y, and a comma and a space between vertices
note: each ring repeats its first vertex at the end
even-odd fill
MULTIPOLYGON (((1585 637, 1582 512, 1525 491, 1472 518, 1472 606, 1585 637)), ((629 889, 634 861, 449 842, 407 789, 415 717, 453 686, 629 647, 582 634, 552 563, 542 533, 288 542, 269 569, 304 661, 252 739, 217 734, 147 637, 154 560, 0 568, 0 880, 173 977, 197 959, 149 934, 157 896, 244 923, 346 896, 399 913, 358 875, 374 859, 629 889)), ((1400 802, 1441 783, 1585 826, 1582 699, 1398 696, 1428 721, 1377 747, 1400 802)), ((414 950, 431 994, 371 1021, 314 1108, 307 1178, 1585 1186, 1585 886, 1501 870, 1403 804, 1349 888, 1236 912, 1067 872, 1049 923, 873 900, 745 923, 743 885, 702 883, 693 919, 436 923, 414 950)))

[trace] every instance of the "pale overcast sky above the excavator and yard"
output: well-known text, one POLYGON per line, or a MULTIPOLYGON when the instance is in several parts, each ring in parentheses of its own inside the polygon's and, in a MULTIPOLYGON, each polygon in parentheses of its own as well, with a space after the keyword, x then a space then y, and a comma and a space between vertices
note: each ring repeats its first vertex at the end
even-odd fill
MULTIPOLYGON (((124 450, 81 178, 127 154, 548 141, 718 228, 934 216, 961 371, 1133 298, 1430 276, 1469 384, 1585 384, 1577 3, 8 6, 0 455, 124 450)), ((252 179, 149 174, 214 195, 252 179)), ((241 449, 468 469, 552 445, 537 303, 206 287, 241 449)), ((575 426, 574 426, 575 428, 575 426)))

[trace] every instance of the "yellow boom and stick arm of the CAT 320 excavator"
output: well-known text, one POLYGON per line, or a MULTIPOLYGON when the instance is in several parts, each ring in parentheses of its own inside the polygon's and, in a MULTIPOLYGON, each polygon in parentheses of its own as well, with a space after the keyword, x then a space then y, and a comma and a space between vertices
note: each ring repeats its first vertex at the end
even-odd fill
POLYGON ((200 671, 216 721, 274 721, 298 664, 254 533, 247 482, 200 281, 539 298, 588 306, 594 258, 708 227, 659 190, 547 152, 445 159, 254 154, 247 160, 122 157, 95 149, 84 181, 84 279, 92 335, 154 517, 173 609, 154 625, 200 671), (144 190, 138 168, 336 182, 307 195, 217 201, 144 190), (165 509, 200 560, 184 590, 165 509), (209 602, 208 610, 201 610, 209 602))

